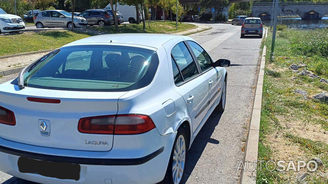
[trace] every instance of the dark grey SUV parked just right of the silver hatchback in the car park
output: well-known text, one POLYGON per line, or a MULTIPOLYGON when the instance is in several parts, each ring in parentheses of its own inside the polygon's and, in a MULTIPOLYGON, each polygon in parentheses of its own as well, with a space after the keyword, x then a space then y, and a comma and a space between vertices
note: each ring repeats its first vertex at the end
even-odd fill
POLYGON ((103 9, 88 9, 78 15, 87 19, 89 25, 111 25, 114 24, 114 16, 108 11, 103 9))

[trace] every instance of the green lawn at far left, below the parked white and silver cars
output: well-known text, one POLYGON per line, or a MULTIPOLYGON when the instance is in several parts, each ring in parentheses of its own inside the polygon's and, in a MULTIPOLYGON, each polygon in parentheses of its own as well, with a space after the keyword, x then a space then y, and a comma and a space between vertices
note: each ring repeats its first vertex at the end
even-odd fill
POLYGON ((89 36, 67 30, 0 36, 0 56, 54 49, 89 36))

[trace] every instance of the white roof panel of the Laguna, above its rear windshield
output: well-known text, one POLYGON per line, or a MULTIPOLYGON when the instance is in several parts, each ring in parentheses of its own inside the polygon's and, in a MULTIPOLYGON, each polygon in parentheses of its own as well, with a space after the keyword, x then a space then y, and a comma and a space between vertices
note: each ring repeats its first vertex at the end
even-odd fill
POLYGON ((170 35, 170 34, 151 34, 151 33, 123 33, 123 34, 107 34, 107 35, 97 35, 75 42, 64 45, 84 45, 84 44, 131 44, 131 45, 143 45, 147 47, 153 47, 158 49, 165 42, 172 40, 177 37, 185 37, 180 35, 170 35))

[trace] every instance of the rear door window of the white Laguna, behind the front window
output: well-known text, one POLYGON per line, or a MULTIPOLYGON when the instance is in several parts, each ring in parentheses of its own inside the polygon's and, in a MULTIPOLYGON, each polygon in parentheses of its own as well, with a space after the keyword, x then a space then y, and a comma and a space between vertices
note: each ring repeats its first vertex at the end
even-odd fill
POLYGON ((171 51, 183 79, 187 80, 198 74, 196 63, 184 42, 175 45, 171 51))

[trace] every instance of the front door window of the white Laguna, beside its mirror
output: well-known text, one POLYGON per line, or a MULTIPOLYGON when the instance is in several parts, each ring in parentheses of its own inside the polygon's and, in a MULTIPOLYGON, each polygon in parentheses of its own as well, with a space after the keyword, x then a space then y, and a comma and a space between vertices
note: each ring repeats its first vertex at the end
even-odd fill
POLYGON ((191 49, 195 53, 197 61, 200 65, 200 69, 204 71, 208 68, 211 68, 212 62, 211 62, 210 55, 208 55, 207 52, 203 48, 201 48, 197 43, 193 41, 187 41, 187 42, 189 43, 191 49))

